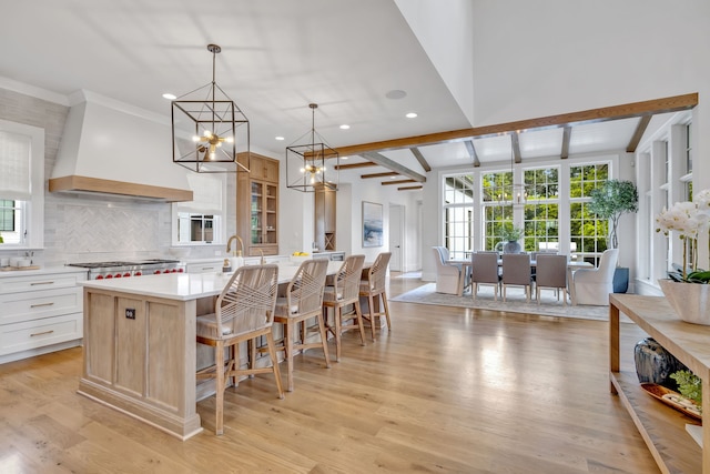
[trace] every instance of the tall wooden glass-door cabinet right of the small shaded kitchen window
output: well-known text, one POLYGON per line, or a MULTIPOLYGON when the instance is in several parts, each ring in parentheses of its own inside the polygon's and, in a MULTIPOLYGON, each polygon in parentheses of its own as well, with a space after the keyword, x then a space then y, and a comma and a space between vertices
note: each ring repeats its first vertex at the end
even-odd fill
POLYGON ((245 256, 278 254, 278 160, 251 153, 236 177, 236 233, 245 256))

